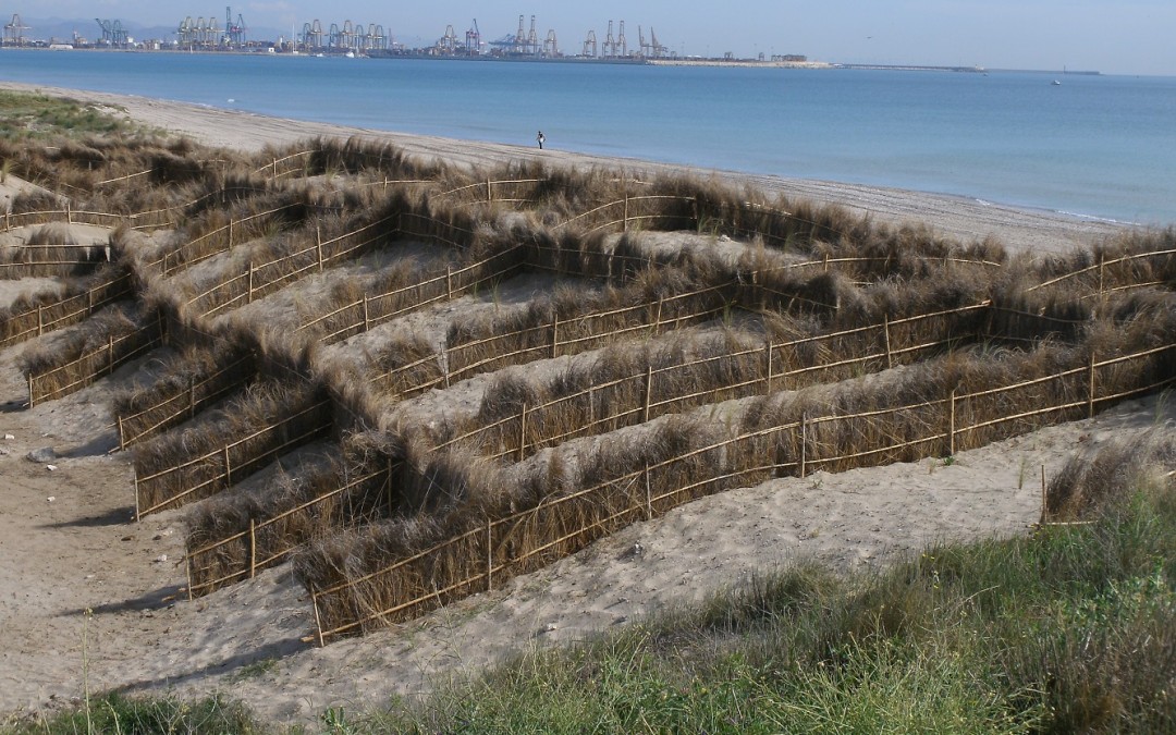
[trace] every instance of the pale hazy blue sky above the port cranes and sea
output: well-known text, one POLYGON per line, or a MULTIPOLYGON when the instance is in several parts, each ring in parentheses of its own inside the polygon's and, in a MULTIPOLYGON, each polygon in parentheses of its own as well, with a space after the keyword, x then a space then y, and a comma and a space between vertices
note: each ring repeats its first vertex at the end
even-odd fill
MULTIPOLYGON (((629 46, 637 26, 679 54, 736 56, 806 54, 842 62, 981 65, 994 68, 1098 69, 1176 75, 1174 0, 514 0, 413 2, 388 0, 8 0, 7 19, 22 16, 119 19, 179 26, 185 16, 215 16, 225 5, 247 26, 289 28, 320 20, 380 24, 397 41, 432 42, 453 25, 465 38, 477 19, 483 40, 527 27, 536 15, 540 39, 554 28, 564 53, 579 53, 589 29, 602 41, 609 19, 626 21, 629 46), (13 2, 15 1, 15 5, 13 2)), ((89 24, 96 28, 96 24, 89 24)), ((83 33, 93 34, 85 27, 83 33)))

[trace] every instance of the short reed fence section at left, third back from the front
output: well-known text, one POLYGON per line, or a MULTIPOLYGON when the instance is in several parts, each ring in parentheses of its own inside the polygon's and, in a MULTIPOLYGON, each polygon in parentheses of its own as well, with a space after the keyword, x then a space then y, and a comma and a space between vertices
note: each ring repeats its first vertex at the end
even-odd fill
POLYGON ((220 493, 275 457, 326 435, 332 426, 332 405, 323 387, 258 381, 191 426, 135 448, 139 514, 220 493))

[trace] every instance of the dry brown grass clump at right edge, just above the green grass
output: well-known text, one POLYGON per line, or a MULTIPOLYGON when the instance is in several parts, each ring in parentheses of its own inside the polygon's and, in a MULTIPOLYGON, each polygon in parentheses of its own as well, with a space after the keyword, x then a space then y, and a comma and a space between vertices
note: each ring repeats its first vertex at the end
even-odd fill
POLYGON ((1110 440, 1077 454, 1054 476, 1043 521, 1077 521, 1122 500, 1122 488, 1174 487, 1176 436, 1170 421, 1142 437, 1110 440))

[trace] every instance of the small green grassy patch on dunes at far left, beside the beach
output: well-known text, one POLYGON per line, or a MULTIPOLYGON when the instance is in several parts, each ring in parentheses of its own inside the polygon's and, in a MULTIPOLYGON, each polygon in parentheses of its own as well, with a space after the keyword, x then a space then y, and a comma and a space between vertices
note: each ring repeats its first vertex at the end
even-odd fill
POLYGON ((16 140, 131 131, 133 126, 92 105, 31 92, 0 91, 0 138, 16 140))

